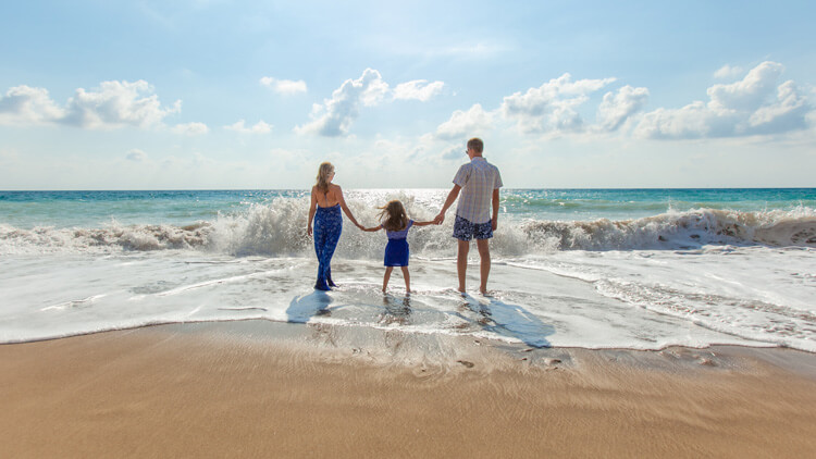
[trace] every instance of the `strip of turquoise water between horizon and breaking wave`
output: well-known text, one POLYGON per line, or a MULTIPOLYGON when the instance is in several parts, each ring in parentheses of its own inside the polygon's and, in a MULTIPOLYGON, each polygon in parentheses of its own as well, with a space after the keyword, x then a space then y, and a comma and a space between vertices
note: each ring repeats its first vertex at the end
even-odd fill
MULTIPOLYGON (((383 190, 386 193, 387 190, 383 190)), ((404 193, 411 194, 412 190, 404 193)), ((442 204, 446 190, 417 190, 429 208, 442 204), (437 196, 438 195, 438 196, 437 196)), ((349 190, 349 203, 376 206, 376 190, 349 190)), ((0 191, 0 223, 36 226, 99 227, 120 224, 184 226, 219 215, 246 212, 276 198, 307 199, 306 190, 156 190, 156 191, 0 191)), ((503 189, 502 212, 512 219, 622 221, 692 209, 740 212, 816 208, 816 188, 734 189, 503 189)))

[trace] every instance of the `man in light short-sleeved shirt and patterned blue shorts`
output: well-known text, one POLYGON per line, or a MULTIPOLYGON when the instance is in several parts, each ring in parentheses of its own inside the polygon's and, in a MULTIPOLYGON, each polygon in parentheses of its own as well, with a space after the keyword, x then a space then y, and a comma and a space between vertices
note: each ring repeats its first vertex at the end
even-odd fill
POLYGON ((468 158, 470 162, 462 164, 454 177, 454 188, 447 195, 445 204, 434 222, 441 224, 445 220, 445 212, 453 206, 461 190, 459 204, 456 207, 456 222, 454 237, 458 239, 456 271, 459 274, 459 291, 465 293, 465 274, 468 269, 468 251, 470 240, 475 237, 479 257, 481 259, 481 285, 479 291, 487 293, 487 275, 491 272, 491 252, 489 239, 497 227, 498 220, 498 188, 502 187, 502 175, 498 168, 482 158, 484 142, 479 138, 468 140, 468 158), (492 204, 492 206, 491 206, 492 204), (491 215, 491 207, 493 214, 491 215))

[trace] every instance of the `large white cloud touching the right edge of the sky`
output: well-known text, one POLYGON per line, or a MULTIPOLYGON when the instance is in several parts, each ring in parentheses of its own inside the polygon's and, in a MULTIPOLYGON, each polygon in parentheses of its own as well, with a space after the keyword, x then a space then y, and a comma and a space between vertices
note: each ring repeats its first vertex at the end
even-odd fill
POLYGON ((707 103, 646 113, 635 136, 646 138, 713 138, 779 134, 807 126, 807 99, 792 80, 777 86, 783 67, 763 62, 741 80, 708 88, 707 103), (776 96, 776 97, 775 97, 776 96))

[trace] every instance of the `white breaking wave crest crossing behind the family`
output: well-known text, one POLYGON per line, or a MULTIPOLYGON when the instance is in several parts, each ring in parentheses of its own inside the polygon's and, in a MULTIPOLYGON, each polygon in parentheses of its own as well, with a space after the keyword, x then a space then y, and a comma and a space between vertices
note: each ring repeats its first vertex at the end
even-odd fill
MULTIPOLYGON (((431 220, 435 214, 435 209, 411 197, 404 197, 403 202, 415 220, 431 220)), ((279 198, 186 226, 111 222, 99 228, 24 230, 0 224, 0 255, 203 250, 238 257, 310 256, 308 203, 308 199, 279 198)), ((362 224, 375 224, 376 209, 372 206, 351 202, 350 207, 362 224)), ((442 226, 412 231, 412 253, 452 256, 453 220, 450 211, 442 226)), ((379 258, 384 245, 384 235, 360 232, 347 222, 337 255, 379 258)), ((816 210, 799 207, 741 212, 703 208, 620 221, 542 221, 503 215, 491 248, 496 257, 518 257, 556 250, 685 249, 705 245, 816 247, 816 210)))

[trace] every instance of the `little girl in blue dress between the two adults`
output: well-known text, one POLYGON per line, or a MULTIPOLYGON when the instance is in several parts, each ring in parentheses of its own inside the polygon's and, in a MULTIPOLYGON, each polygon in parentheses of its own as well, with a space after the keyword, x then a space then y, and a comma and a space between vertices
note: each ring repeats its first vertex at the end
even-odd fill
POLYGON ((385 275, 383 276, 383 293, 388 287, 388 280, 391 278, 391 272, 394 266, 400 266, 403 269, 403 277, 405 277, 405 293, 411 293, 411 280, 408 275, 408 230, 411 226, 425 226, 433 224, 433 222, 415 222, 409 220, 405 213, 405 207, 403 203, 394 200, 385 204, 385 207, 379 208, 380 221, 383 222, 380 226, 370 228, 362 228, 362 231, 374 232, 385 230, 388 236, 388 244, 385 246, 385 275))

